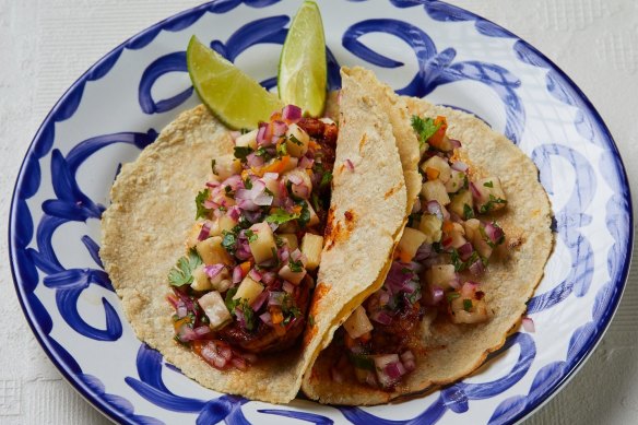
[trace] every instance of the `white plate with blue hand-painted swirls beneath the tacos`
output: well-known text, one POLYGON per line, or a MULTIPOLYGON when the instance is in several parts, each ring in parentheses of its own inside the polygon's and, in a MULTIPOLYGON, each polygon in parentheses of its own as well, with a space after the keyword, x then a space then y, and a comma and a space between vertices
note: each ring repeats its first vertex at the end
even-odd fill
POLYGON ((521 420, 578 368, 617 307, 633 246, 630 194, 611 134, 578 87, 516 35, 440 1, 341 0, 339 11, 323 8, 329 86, 340 86, 340 64, 363 64, 401 94, 475 114, 536 163, 556 231, 529 303, 536 333, 515 333, 472 377, 399 405, 319 409, 299 399, 264 408, 199 387, 127 324, 98 257, 98 220, 113 179, 197 103, 184 51, 192 34, 272 88, 297 7, 217 0, 185 11, 117 47, 54 107, 24 158, 9 236, 16 291, 36 338, 78 391, 122 423, 521 420), (91 118, 99 122, 83 126, 91 118), (552 327, 558 319, 559 330, 552 327))

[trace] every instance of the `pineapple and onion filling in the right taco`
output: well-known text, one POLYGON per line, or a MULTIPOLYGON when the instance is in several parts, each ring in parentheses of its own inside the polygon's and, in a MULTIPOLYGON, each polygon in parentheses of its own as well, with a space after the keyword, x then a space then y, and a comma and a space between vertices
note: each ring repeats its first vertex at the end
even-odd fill
POLYGON ((505 240, 486 215, 507 205, 500 180, 472 178, 454 157, 461 142, 446 134, 445 117, 413 116, 412 127, 421 144, 422 190, 382 287, 336 335, 343 351, 331 373, 336 381, 350 368, 361 383, 392 390, 416 368, 416 328, 426 314, 457 324, 492 315, 480 280, 505 240))

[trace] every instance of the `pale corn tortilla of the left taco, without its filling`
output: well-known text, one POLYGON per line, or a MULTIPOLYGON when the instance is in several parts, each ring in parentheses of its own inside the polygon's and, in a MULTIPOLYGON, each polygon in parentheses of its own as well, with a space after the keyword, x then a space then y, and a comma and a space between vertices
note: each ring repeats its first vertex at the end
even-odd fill
POLYGON ((105 270, 138 338, 204 387, 252 400, 291 401, 305 369, 329 342, 324 335, 385 279, 407 210, 397 140, 374 99, 348 99, 341 109, 342 121, 358 126, 339 134, 312 324, 299 344, 259 356, 247 371, 217 370, 176 343, 174 310, 166 300, 172 292, 166 276, 184 255, 193 200, 208 179, 211 158, 233 153, 227 129, 201 105, 187 110, 135 162, 122 166, 114 184, 102 221, 105 270))

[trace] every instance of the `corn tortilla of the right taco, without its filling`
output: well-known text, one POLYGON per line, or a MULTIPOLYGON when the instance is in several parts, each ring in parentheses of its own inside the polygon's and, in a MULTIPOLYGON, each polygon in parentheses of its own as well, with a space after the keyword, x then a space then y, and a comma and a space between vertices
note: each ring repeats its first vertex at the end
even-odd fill
MULTIPOLYGON (((377 82, 374 75, 370 78, 367 73, 358 73, 357 78, 359 82, 365 81, 365 92, 369 93, 369 96, 377 99, 392 97, 388 94, 387 87, 377 82)), ((352 93, 344 90, 342 106, 352 104, 350 95, 352 93)), ((418 330, 423 351, 421 354, 415 353, 416 369, 392 391, 362 385, 347 374, 343 382, 332 380, 330 369, 338 362, 342 351, 331 344, 306 371, 302 387, 310 399, 321 403, 380 404, 466 376, 485 361, 488 353, 505 343, 508 331, 524 314, 525 303, 541 281, 552 250, 550 201, 537 180, 535 165, 523 152, 472 115, 435 106, 420 98, 403 98, 397 104, 402 103, 407 105, 410 116, 432 118, 445 116, 449 126, 448 135, 462 143, 462 149, 457 155, 470 166, 472 175, 478 178, 488 176, 500 178, 508 197, 508 206, 503 213, 496 214, 496 219, 507 235, 508 257, 492 262, 487 272, 480 279, 494 317, 485 323, 466 326, 453 324, 446 317, 438 317, 432 321, 432 316, 426 314, 418 330)), ((388 106, 387 101, 381 101, 380 104, 388 106)), ((346 120, 340 122, 340 126, 341 131, 347 132, 351 126, 357 127, 357 123, 346 120)), ((403 127, 395 130, 394 134, 407 132, 412 132, 412 129, 403 127)), ((405 140, 398 140, 399 145, 404 144, 405 140)), ((415 140, 407 143, 416 145, 415 140)), ((405 162, 404 156, 402 160, 405 162)), ((382 173, 380 169, 379 174, 382 173)), ((381 284, 382 282, 377 282, 374 287, 378 288, 381 284)), ((369 293, 371 291, 366 292, 369 293)), ((358 304, 363 302, 362 297, 353 297, 354 299, 358 304)))

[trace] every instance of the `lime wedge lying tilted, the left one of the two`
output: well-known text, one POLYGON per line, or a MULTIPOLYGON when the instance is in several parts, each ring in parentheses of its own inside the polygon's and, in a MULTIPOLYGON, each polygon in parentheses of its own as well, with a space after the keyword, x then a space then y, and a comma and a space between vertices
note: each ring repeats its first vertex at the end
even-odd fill
POLYGON ((281 101, 193 35, 186 50, 192 85, 204 105, 233 129, 255 129, 281 101))

